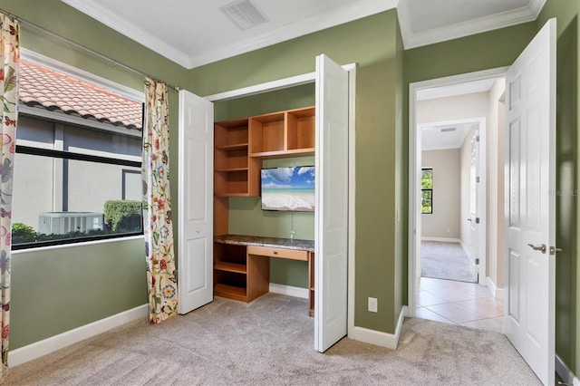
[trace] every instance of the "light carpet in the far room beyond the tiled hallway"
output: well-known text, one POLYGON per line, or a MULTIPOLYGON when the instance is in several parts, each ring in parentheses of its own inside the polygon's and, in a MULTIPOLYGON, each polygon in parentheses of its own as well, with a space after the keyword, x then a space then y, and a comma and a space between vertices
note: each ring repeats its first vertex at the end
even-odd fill
POLYGON ((420 275, 435 279, 475 282, 471 262, 459 243, 422 241, 420 243, 420 275))

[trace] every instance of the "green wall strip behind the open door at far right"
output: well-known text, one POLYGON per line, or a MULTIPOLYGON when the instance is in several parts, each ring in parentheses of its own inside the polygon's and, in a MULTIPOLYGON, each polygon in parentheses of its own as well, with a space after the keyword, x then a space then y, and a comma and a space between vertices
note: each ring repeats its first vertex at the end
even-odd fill
POLYGON ((580 373, 578 265, 578 11, 577 0, 548 0, 536 28, 556 17, 556 353, 580 373))

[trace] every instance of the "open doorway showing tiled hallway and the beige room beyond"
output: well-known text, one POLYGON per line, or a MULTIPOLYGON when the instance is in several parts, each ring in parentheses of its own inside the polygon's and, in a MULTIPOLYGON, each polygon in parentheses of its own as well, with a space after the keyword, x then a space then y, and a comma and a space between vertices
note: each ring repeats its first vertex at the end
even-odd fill
POLYGON ((410 208, 410 231, 417 235, 410 246, 410 314, 498 332, 504 312, 498 246, 504 71, 411 84, 410 100, 410 127, 416 128, 410 132, 411 205, 421 208, 410 208), (430 211, 424 210, 425 170, 430 211))

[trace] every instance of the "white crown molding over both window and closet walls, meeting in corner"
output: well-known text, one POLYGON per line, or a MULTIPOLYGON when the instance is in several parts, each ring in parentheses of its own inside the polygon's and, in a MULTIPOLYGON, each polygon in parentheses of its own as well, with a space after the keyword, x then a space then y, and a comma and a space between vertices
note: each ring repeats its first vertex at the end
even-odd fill
POLYGON ((129 24, 126 20, 121 19, 121 17, 113 14, 106 8, 96 5, 94 1, 61 1, 187 69, 218 62, 275 43, 285 42, 286 40, 294 39, 304 34, 312 34, 316 31, 321 31, 334 25, 348 23, 371 14, 378 14, 396 8, 399 4, 399 0, 372 0, 365 2, 363 5, 356 3, 343 5, 329 13, 276 29, 270 34, 262 34, 255 38, 233 44, 220 45, 217 49, 208 53, 190 54, 183 53, 171 44, 161 41, 155 35, 147 33, 138 26, 129 24))

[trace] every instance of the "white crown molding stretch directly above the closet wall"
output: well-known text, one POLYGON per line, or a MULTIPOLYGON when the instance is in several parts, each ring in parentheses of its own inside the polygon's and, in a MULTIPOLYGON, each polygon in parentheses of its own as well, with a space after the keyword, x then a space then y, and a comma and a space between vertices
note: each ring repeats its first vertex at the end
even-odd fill
POLYGON ((189 68, 217 62, 242 53, 249 53, 269 45, 295 39, 304 34, 312 34, 317 31, 322 31, 335 25, 349 23, 353 20, 361 19, 362 17, 396 8, 398 4, 399 0, 374 0, 372 2, 365 2, 364 5, 343 5, 333 9, 333 11, 329 13, 287 25, 272 31, 269 34, 261 34, 246 41, 220 46, 218 49, 211 52, 195 57, 192 56, 190 58, 191 62, 189 63, 189 68))

